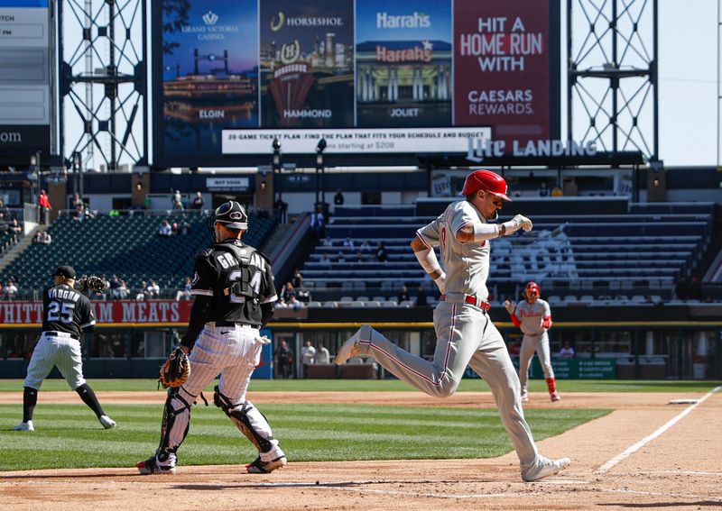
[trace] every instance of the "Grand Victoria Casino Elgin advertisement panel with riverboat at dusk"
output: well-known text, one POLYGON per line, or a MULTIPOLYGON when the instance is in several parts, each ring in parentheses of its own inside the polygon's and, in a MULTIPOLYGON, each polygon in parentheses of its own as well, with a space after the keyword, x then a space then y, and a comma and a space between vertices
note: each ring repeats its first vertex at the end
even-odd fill
POLYGON ((221 127, 257 127, 256 0, 165 2, 162 152, 192 165, 220 154, 221 127))

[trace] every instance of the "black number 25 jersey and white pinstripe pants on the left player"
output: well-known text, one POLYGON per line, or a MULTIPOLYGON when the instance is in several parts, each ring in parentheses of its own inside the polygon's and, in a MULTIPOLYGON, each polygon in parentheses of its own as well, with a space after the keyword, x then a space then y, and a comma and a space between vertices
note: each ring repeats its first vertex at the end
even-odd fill
POLYGON ((80 352, 79 329, 96 324, 93 307, 88 298, 66 284, 49 287, 43 292, 43 324, 62 324, 63 328, 75 333, 47 330, 41 333, 32 351, 28 372, 23 387, 40 390, 42 381, 48 377, 53 366, 57 366, 63 378, 72 389, 86 382, 83 377, 83 361, 80 352), (79 325, 74 328, 73 322, 79 325))

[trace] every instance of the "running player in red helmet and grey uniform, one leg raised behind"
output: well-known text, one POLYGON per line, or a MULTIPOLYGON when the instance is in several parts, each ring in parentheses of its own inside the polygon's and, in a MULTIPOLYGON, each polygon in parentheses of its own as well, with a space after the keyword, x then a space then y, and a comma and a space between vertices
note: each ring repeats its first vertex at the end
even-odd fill
POLYGON ((338 349, 336 363, 356 356, 372 356, 385 370, 433 397, 449 397, 467 369, 475 370, 491 388, 499 414, 519 457, 522 479, 534 481, 558 473, 569 458, 550 460, 538 451, 522 409, 521 386, 501 334, 487 315, 486 278, 490 243, 519 229, 530 231, 532 222, 521 214, 503 224, 495 220, 507 196, 504 178, 489 170, 467 176, 462 194, 466 200, 450 204, 444 213, 421 227, 411 245, 421 267, 441 291, 434 310, 436 350, 424 360, 389 342, 364 325, 338 349), (446 273, 433 247, 439 246, 446 273))

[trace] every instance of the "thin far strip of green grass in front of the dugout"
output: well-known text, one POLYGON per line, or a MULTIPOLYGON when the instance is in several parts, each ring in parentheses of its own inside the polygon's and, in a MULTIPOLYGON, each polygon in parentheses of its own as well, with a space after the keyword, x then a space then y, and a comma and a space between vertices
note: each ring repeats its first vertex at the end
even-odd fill
MULTIPOLYGON (((95 390, 155 390, 158 382, 154 379, 93 379, 88 384, 95 390)), ((560 392, 709 392, 722 385, 722 381, 711 380, 643 380, 643 379, 559 379, 560 392)), ((212 389, 212 386, 210 387, 212 389)), ((42 390, 68 390, 64 379, 46 379, 42 390)), ((398 379, 253 379, 250 391, 356 391, 386 392, 414 389, 398 379)), ((23 390, 22 379, 0 379, 0 392, 23 390)), ((464 379, 458 392, 486 392, 489 388, 483 380, 464 379)), ((531 392, 545 392, 542 379, 530 379, 531 392)))

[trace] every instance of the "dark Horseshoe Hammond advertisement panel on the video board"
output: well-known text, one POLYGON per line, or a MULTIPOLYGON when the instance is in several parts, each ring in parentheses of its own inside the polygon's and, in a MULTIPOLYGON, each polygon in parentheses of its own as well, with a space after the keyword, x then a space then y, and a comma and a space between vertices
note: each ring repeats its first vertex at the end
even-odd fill
POLYGON ((261 3, 263 126, 354 123, 353 0, 261 3))

